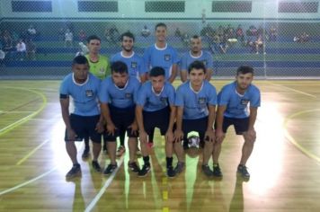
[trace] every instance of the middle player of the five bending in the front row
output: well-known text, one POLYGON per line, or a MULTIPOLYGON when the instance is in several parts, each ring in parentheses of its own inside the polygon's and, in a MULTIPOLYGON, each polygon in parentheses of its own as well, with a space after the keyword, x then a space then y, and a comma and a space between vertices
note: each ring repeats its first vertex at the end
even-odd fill
MULTIPOLYGON (((174 177, 173 170, 173 123, 175 119, 174 88, 165 81, 164 68, 153 67, 150 70, 150 81, 143 84, 138 93, 136 117, 138 121, 141 152, 144 165, 138 176, 146 176, 150 171, 147 153, 147 135, 159 128, 165 139, 166 170, 168 177, 174 177)), ((182 162, 183 150, 174 149, 178 163, 182 162)))

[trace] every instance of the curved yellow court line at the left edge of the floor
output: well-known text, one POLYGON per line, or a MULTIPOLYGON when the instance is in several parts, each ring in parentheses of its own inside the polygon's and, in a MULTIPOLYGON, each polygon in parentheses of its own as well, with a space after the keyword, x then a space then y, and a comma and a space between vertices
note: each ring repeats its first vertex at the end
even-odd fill
POLYGON ((22 119, 19 119, 15 122, 13 122, 12 124, 6 126, 5 128, 1 128, 0 129, 0 136, 3 136, 5 133, 9 132, 10 130, 12 130, 13 128, 16 128, 20 125, 22 125, 22 123, 30 120, 32 117, 36 116, 38 113, 40 113, 41 110, 43 110, 46 105, 47 105, 47 98, 46 96, 43 94, 43 93, 40 93, 40 92, 36 92, 36 91, 32 91, 28 88, 23 88, 23 87, 10 87, 10 86, 2 86, 3 88, 9 88, 9 89, 16 89, 16 90, 22 90, 22 91, 29 91, 31 93, 36 93, 37 95, 40 95, 41 99, 42 99, 42 104, 40 106, 40 109, 32 112, 30 115, 26 116, 26 117, 23 117, 22 119))

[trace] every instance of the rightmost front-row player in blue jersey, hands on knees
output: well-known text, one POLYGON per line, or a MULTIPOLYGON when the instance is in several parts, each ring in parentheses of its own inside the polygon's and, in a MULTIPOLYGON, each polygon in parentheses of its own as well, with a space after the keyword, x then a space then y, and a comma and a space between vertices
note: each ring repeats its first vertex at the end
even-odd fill
POLYGON ((244 137, 244 146, 237 172, 246 179, 250 178, 245 163, 253 152, 255 141, 253 126, 261 102, 260 91, 252 82, 253 67, 240 66, 236 71, 236 81, 225 85, 218 93, 216 143, 212 155, 214 169, 218 176, 222 176, 218 166, 221 144, 225 138, 227 128, 230 125, 234 125, 236 135, 243 135, 244 137))

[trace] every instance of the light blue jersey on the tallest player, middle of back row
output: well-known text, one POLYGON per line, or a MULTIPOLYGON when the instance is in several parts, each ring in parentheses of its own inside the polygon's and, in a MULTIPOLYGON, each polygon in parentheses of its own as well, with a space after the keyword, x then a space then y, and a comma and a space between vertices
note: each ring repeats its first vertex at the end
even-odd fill
POLYGON ((143 58, 147 66, 147 71, 155 66, 163 67, 166 80, 171 76, 173 64, 179 62, 177 51, 167 44, 164 49, 157 48, 156 44, 147 48, 143 58))

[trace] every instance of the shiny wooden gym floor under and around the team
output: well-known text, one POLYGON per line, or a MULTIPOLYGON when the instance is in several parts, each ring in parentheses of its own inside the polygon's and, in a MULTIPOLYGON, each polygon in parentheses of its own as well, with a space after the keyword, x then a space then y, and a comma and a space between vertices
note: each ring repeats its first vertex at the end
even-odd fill
MULTIPOLYGON (((227 81, 212 83, 219 90, 227 81)), ((185 172, 167 179, 164 141, 157 131, 146 178, 128 172, 128 152, 114 175, 93 172, 78 143, 82 177, 66 181, 71 163, 63 141, 59 82, 1 81, 0 211, 320 211, 319 82, 255 83, 262 107, 247 163, 250 181, 236 177, 243 139, 233 129, 220 157, 222 181, 200 172, 197 151, 186 154, 185 172)), ((100 163, 109 163, 108 157, 101 155, 100 163)))

